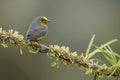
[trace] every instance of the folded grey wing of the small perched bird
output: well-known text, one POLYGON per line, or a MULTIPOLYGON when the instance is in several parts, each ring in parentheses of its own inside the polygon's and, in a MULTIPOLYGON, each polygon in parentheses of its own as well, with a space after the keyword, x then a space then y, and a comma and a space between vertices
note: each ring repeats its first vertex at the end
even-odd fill
POLYGON ((46 27, 41 27, 41 26, 33 26, 28 29, 27 35, 26 35, 26 39, 33 39, 33 38, 37 38, 40 36, 45 36, 47 33, 46 27))

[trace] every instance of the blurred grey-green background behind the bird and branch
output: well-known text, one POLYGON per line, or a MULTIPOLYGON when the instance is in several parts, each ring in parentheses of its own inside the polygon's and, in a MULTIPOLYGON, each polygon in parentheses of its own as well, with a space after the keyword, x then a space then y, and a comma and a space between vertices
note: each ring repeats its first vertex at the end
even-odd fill
MULTIPOLYGON (((69 46, 82 53, 93 34, 95 44, 120 39, 120 0, 0 0, 3 29, 25 35, 31 21, 40 15, 52 20, 48 36, 41 41, 46 45, 69 46)), ((120 52, 119 45, 112 45, 116 52, 120 52)), ((46 54, 31 54, 26 49, 23 53, 21 56, 15 46, 0 46, 0 80, 91 80, 75 65, 57 69, 51 67, 46 54)))

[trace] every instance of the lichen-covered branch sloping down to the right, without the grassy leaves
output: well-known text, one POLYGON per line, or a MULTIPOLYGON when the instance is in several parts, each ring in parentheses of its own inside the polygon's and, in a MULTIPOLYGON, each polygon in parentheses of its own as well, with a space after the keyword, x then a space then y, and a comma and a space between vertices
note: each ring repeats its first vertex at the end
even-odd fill
MULTIPOLYGON (((22 48, 27 48, 33 53, 47 53, 50 58, 55 59, 52 66, 59 67, 60 64, 77 64, 79 68, 86 70, 87 74, 92 73, 94 75, 94 80, 97 80, 99 76, 120 76, 120 60, 118 61, 119 65, 117 66, 108 67, 106 64, 100 65, 98 60, 86 59, 87 56, 83 53, 78 55, 77 52, 71 52, 69 47, 60 47, 58 45, 46 46, 36 42, 26 42, 23 35, 12 29, 5 31, 0 28, 0 41, 4 47, 8 47, 8 44, 19 46, 21 54, 22 48)), ((100 47, 100 49, 102 48, 100 47)), ((96 53, 100 52, 100 50, 97 49, 95 51, 96 53)), ((93 52, 95 53, 95 51, 93 52)), ((87 51, 87 54, 90 53, 87 51)))

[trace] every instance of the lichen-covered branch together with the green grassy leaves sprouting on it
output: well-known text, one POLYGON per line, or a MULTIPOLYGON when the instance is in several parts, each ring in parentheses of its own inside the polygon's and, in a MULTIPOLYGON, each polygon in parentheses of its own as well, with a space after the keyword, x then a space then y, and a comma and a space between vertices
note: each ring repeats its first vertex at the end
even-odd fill
MULTIPOLYGON (((60 64, 70 65, 76 64, 80 69, 84 69, 86 74, 93 74, 93 80, 97 80, 99 76, 120 77, 120 55, 115 53, 110 44, 117 41, 114 39, 101 46, 93 44, 94 37, 92 37, 86 53, 71 52, 69 47, 39 44, 37 42, 29 42, 24 40, 24 36, 14 30, 2 30, 0 28, 0 41, 3 47, 8 47, 8 44, 20 47, 20 53, 23 54, 22 49, 27 48, 32 53, 46 53, 50 58, 54 59, 52 66, 59 67, 60 64), (96 49, 92 52, 91 47, 96 49), (98 59, 92 58, 96 53, 102 53, 106 60, 111 63, 107 66, 105 63, 100 64, 98 59)), ((102 61, 102 60, 101 60, 102 61)))

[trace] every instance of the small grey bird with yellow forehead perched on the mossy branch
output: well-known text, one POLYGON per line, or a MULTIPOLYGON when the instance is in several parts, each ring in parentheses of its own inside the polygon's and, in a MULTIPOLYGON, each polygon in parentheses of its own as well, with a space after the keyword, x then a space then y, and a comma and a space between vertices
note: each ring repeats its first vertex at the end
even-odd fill
POLYGON ((48 33, 48 22, 50 20, 46 16, 37 16, 27 30, 26 41, 39 42, 44 39, 48 33))

